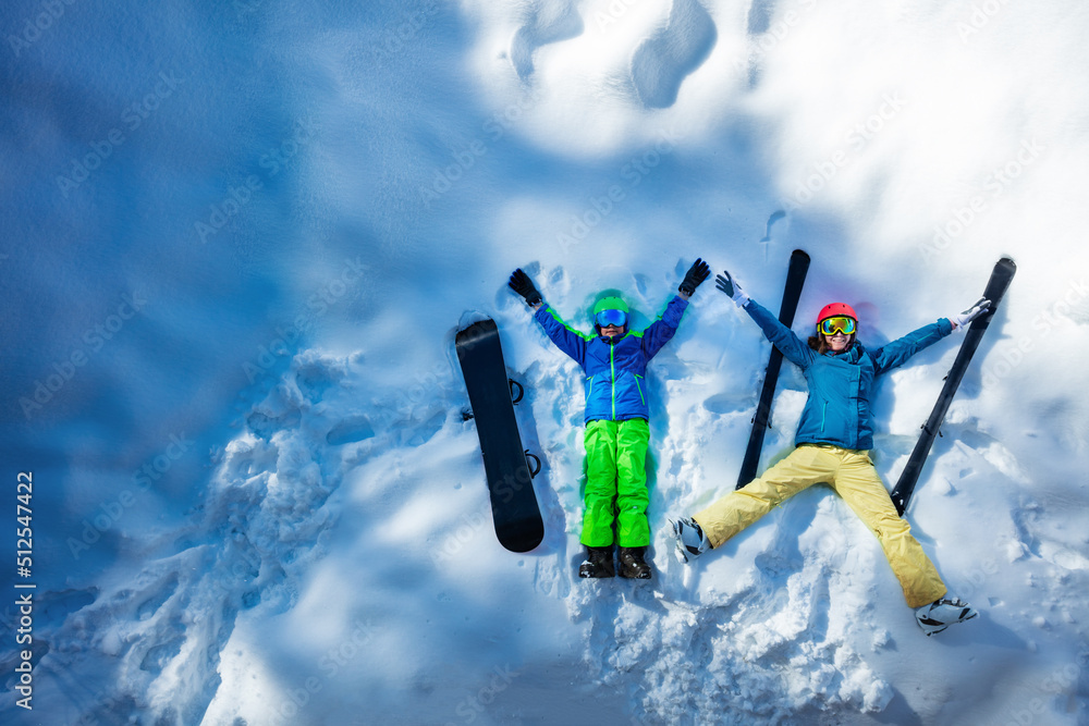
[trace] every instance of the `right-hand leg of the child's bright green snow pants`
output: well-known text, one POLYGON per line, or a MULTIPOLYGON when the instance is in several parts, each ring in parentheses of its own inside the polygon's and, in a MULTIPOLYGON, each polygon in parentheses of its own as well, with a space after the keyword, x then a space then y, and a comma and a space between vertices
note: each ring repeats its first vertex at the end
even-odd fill
POLYGON ((647 446, 650 427, 637 418, 621 421, 616 448, 616 543, 622 547, 650 544, 647 522, 647 446))

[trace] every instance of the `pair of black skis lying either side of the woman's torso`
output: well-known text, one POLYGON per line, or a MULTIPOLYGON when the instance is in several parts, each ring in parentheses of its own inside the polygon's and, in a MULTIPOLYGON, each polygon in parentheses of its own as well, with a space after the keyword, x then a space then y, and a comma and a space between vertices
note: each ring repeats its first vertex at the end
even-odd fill
MULTIPOLYGON (((802 288, 805 285, 806 273, 808 271, 809 255, 800 249, 795 249, 791 255, 791 263, 786 272, 786 285, 783 288, 783 303, 779 312, 780 322, 787 328, 794 324, 794 315, 798 309, 798 300, 802 297, 802 288)), ((991 271, 991 278, 983 290, 983 297, 991 300, 991 307, 987 312, 976 318, 965 333, 964 341, 960 343, 960 349, 953 361, 953 367, 945 377, 945 384, 938 396, 938 402, 934 404, 930 418, 927 419, 927 422, 922 427, 922 435, 919 436, 915 450, 911 452, 910 457, 908 457, 907 466, 904 467, 900 480, 893 488, 892 501, 896 506, 896 512, 901 516, 907 509, 911 493, 919 481, 919 475, 922 473, 922 466, 927 462, 927 456, 930 454, 934 439, 939 435, 942 421, 945 419, 945 413, 949 410, 950 404, 953 403, 953 396, 956 394, 957 386, 960 385, 960 380, 964 378, 965 371, 968 370, 968 364, 971 362, 971 357, 975 355, 976 348, 979 347, 979 342, 982 340, 983 333, 987 332, 988 325, 991 324, 991 318, 994 317, 999 303, 1002 300, 1003 295, 1005 295, 1006 288, 1010 286, 1010 282, 1013 280, 1016 271, 1017 266, 1008 257, 1000 259, 991 271)), ((745 458, 742 460, 742 469, 737 478, 737 489, 741 489, 756 478, 757 467, 760 462, 760 451, 763 447, 764 433, 770 426, 771 402, 775 395, 775 384, 779 381, 779 371, 782 365, 783 354, 779 348, 772 346, 771 358, 768 360, 768 372, 764 376, 763 387, 760 391, 760 401, 757 404, 756 416, 752 418, 752 432, 749 435, 748 446, 745 450, 745 458)))

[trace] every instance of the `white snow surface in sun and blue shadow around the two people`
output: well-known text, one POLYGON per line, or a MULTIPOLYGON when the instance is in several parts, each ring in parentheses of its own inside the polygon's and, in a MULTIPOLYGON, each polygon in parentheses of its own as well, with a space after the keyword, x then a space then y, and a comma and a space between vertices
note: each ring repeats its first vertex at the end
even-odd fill
MULTIPOLYGON (((1089 723, 1084 3, 10 0, 0 28, 8 510, 35 484, 3 723, 1089 723), (645 324, 696 257, 774 308, 795 247, 797 330, 842 299, 871 345, 1017 260, 908 512, 974 623, 926 638, 825 488, 673 561, 769 349, 711 284, 648 376, 657 578, 575 577, 580 374, 506 276, 645 324), (479 315, 544 463, 525 555, 462 417, 479 315)), ((955 350, 885 380, 888 482, 955 350)), ((804 399, 786 367, 761 466, 804 399)))

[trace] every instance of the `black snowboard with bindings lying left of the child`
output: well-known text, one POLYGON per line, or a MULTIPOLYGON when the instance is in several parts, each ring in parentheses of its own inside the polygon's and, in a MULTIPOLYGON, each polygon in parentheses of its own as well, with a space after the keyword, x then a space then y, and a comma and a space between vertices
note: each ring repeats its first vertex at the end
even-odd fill
POLYGON ((522 446, 514 417, 499 329, 489 318, 457 331, 454 341, 480 436, 495 536, 511 552, 528 552, 544 539, 544 522, 534 493, 531 454, 522 446))

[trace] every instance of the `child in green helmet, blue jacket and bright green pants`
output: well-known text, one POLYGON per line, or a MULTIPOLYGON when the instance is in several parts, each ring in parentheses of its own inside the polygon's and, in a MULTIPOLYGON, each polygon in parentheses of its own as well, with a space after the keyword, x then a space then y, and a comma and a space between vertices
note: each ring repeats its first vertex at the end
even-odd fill
POLYGON ((595 335, 568 328, 555 310, 544 305, 521 269, 511 275, 511 288, 534 308, 534 318, 544 334, 574 358, 587 377, 586 512, 579 538, 587 554, 578 567, 579 577, 613 577, 615 543, 620 545, 621 577, 650 578, 650 566, 644 558, 650 544, 646 468, 650 410, 643 380, 647 362, 673 337, 689 296, 709 274, 707 263, 697 259, 678 294, 644 331, 629 329, 624 300, 598 300, 594 306, 595 335))

